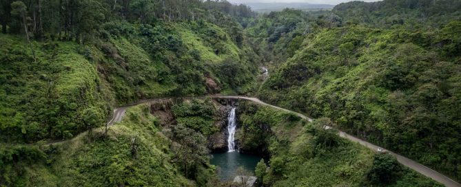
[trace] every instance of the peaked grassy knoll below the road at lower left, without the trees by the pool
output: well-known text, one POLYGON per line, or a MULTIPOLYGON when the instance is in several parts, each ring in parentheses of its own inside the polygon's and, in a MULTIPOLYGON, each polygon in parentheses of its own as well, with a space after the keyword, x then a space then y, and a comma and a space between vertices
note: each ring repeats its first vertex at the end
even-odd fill
POLYGON ((62 144, 42 146, 45 160, 23 166, 12 186, 194 186, 170 163, 171 140, 149 109, 129 109, 107 136, 96 129, 92 140, 82 133, 62 144), (136 157, 132 137, 139 145, 136 157))

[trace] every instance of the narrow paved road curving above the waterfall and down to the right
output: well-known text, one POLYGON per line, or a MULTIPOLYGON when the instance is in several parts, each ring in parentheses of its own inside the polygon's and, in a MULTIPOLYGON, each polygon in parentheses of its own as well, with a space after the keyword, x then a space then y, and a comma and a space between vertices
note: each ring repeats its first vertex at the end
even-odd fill
MULTIPOLYGON (((294 111, 290 111, 288 109, 283 109, 283 108, 280 108, 280 107, 276 107, 276 106, 274 106, 272 104, 267 104, 267 103, 259 100, 258 98, 249 98, 249 97, 245 97, 245 96, 208 96, 208 97, 209 98, 216 98, 216 99, 249 100, 249 101, 252 101, 252 102, 256 102, 258 104, 263 104, 265 106, 272 107, 274 109, 295 113, 300 118, 303 118, 305 120, 308 120, 309 122, 312 122, 312 119, 307 117, 306 115, 303 115, 301 113, 297 113, 297 112, 294 112, 294 111)), ((183 98, 206 98, 206 97, 183 97, 183 98)), ((152 102, 152 101, 155 101, 155 100, 165 100, 165 99, 174 99, 174 98, 160 98, 160 99, 154 99, 154 100, 143 100, 143 101, 140 101, 140 102, 136 102, 134 104, 127 105, 125 107, 116 108, 116 109, 114 109, 114 117, 112 118, 112 120, 107 122, 107 126, 112 126, 116 122, 121 122, 121 120, 123 118, 123 115, 125 115, 125 111, 128 108, 132 107, 132 106, 136 106, 137 104, 143 104, 143 103, 147 103, 147 102, 152 102)), ((331 129, 331 126, 326 126, 325 129, 331 129)), ((370 142, 367 142, 365 140, 361 140, 361 139, 359 139, 357 137, 354 137, 353 135, 349 135, 349 134, 347 134, 345 132, 342 132, 342 131, 338 131, 338 135, 340 137, 346 138, 347 140, 351 140, 352 142, 358 142, 359 144, 362 144, 363 146, 371 148, 373 151, 376 151, 378 149, 378 147, 379 147, 379 146, 376 146, 375 144, 371 144, 370 142)), ((461 186, 461 184, 459 184, 458 182, 454 181, 453 179, 450 179, 449 177, 447 177, 445 175, 442 175, 442 174, 438 173, 436 170, 432 170, 431 168, 428 168, 427 166, 419 164, 418 162, 415 162, 415 161, 413 161, 413 160, 411 160, 411 159, 409 159, 407 157, 404 157, 402 155, 398 155, 398 154, 393 153, 391 151, 389 151, 389 153, 391 155, 395 156, 397 158, 398 162, 400 162, 400 164, 403 164, 404 166, 412 168, 413 170, 416 170, 418 173, 421 173, 424 176, 427 176, 427 177, 429 177, 429 178, 431 178, 431 179, 433 179, 435 181, 438 181, 438 182, 440 182, 441 184, 444 184, 447 187, 460 187, 461 186)))

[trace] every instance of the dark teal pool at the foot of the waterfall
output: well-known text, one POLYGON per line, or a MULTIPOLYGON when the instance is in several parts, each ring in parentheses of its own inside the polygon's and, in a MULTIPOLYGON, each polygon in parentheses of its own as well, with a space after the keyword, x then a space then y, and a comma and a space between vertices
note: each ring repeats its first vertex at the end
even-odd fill
POLYGON ((210 163, 221 168, 221 172, 219 173, 221 180, 232 181, 236 176, 238 167, 242 166, 246 170, 250 170, 254 173, 254 168, 260 160, 261 157, 234 151, 230 153, 214 153, 212 154, 210 163))

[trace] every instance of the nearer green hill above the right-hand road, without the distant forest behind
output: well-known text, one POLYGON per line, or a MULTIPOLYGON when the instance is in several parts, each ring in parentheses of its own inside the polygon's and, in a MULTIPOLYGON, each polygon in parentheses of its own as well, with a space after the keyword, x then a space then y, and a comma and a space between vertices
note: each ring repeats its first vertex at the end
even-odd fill
POLYGON ((459 25, 435 33, 324 30, 308 36, 260 96, 332 118, 341 129, 459 179, 460 151, 453 150, 460 147, 453 142, 460 137, 454 130, 460 121, 460 66, 459 56, 450 55, 459 36, 447 34, 459 25))

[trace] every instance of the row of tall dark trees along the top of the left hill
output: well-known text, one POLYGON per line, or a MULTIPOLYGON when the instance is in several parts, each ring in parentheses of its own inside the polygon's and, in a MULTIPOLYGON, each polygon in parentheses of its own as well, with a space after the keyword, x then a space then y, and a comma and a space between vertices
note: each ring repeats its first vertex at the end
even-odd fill
POLYGON ((201 0, 50 0, 12 1, 0 4, 3 33, 30 32, 36 39, 90 41, 101 24, 126 20, 134 23, 155 21, 195 21, 222 19, 218 12, 252 17, 246 5, 228 1, 201 0))

